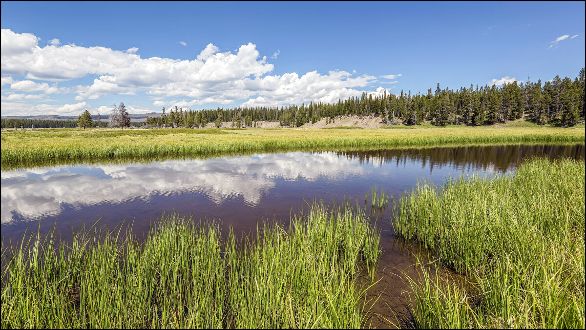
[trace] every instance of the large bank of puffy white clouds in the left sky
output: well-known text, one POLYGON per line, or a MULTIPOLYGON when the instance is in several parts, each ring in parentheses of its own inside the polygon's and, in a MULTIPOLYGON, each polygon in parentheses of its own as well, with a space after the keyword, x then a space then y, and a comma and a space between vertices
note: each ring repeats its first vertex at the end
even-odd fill
MULTIPOLYGON (((282 106, 310 101, 334 102, 338 98, 359 96, 362 90, 357 89, 377 82, 377 77, 359 76, 355 70, 352 73, 331 70, 327 74, 311 71, 271 75, 274 65, 267 62, 267 56, 261 56, 253 43, 227 52, 209 43, 195 59, 143 59, 137 50, 137 47, 113 50, 56 42, 40 47, 38 38, 31 33, 2 29, 2 91, 5 93, 4 86, 9 85, 15 91, 74 93, 71 97, 74 100, 62 101, 68 104, 144 93, 151 97, 155 107, 195 107, 208 103, 282 106), (42 82, 76 81, 88 76, 93 78, 89 84, 84 82, 66 89, 57 87, 56 83, 42 82), (15 77, 24 79, 18 81, 15 77), (172 102, 176 104, 170 104, 172 102)), ((277 50, 272 57, 279 54, 277 50)), ((402 74, 389 74, 381 78, 400 76, 402 74)), ((36 114, 41 109, 52 113, 69 110, 65 106, 45 107, 43 104, 29 104, 29 109, 25 110, 3 101, 3 113, 5 106, 11 108, 10 111, 23 110, 22 114, 36 114)))

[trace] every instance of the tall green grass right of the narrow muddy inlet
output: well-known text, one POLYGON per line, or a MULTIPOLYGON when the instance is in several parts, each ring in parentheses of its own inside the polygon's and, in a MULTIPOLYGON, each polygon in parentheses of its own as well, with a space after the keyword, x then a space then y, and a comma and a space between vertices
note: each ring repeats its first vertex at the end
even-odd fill
POLYGON ((474 285, 466 292, 426 273, 430 281, 412 283, 417 324, 584 328, 584 173, 584 161, 533 159, 512 176, 421 184, 403 196, 396 232, 474 285))

